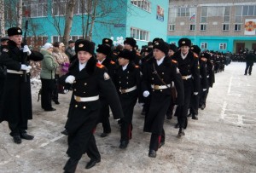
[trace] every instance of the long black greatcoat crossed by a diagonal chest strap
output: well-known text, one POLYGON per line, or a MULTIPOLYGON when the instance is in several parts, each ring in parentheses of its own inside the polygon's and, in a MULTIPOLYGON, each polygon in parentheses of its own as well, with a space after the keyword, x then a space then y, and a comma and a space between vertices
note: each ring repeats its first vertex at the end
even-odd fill
POLYGON ((154 73, 153 63, 160 78, 166 84, 172 84, 172 81, 174 81, 175 87, 177 89, 177 105, 183 105, 184 89, 181 75, 177 71, 177 62, 172 61, 169 57, 165 57, 164 61, 160 64, 160 66, 157 65, 154 58, 145 62, 143 66, 142 89, 143 91, 148 90, 150 92, 151 101, 149 111, 145 117, 144 131, 161 135, 166 112, 171 104, 172 91, 169 88, 149 88, 149 86, 151 86, 152 84, 165 85, 154 73))

